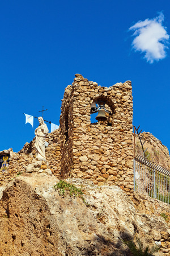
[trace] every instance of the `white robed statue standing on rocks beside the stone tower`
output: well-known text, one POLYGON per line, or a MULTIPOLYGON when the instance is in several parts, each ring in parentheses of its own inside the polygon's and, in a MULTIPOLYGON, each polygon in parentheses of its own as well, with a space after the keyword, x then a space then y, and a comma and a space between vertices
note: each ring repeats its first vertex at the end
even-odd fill
POLYGON ((46 159, 45 158, 45 137, 46 137, 46 134, 48 134, 48 128, 44 123, 44 120, 42 117, 39 117, 38 119, 39 119, 40 125, 35 129, 35 135, 36 135, 35 146, 37 150, 36 158, 46 159))

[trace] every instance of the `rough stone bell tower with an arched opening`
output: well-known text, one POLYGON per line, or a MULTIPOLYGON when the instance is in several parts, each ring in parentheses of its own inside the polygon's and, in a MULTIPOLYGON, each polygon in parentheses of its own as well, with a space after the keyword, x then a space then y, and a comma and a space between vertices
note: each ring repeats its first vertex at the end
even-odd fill
POLYGON ((116 184, 133 191, 133 100, 131 81, 109 88, 76 74, 61 106, 61 177, 116 184), (92 102, 104 101, 107 121, 91 123, 92 102))

